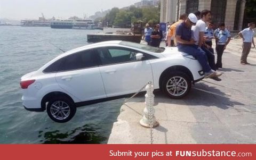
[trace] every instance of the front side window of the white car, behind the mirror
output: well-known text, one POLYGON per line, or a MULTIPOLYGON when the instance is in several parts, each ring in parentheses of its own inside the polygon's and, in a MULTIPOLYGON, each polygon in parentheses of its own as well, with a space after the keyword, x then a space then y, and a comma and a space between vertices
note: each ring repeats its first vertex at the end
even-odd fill
POLYGON ((137 52, 122 47, 105 47, 98 49, 102 65, 136 61, 137 52))

